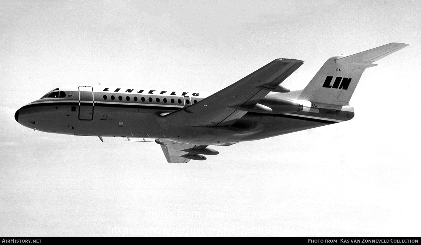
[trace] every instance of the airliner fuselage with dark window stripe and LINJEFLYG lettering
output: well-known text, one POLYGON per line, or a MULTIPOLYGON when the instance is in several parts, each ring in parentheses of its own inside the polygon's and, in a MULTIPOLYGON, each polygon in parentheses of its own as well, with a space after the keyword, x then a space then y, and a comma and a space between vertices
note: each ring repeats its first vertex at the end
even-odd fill
POLYGON ((248 112, 229 127, 191 127, 182 123, 172 124, 163 117, 210 94, 116 86, 65 86, 25 105, 16 112, 15 118, 25 127, 43 132, 168 138, 180 143, 203 145, 262 139, 343 121, 337 120, 336 116, 317 118, 316 114, 320 114, 322 109, 317 109, 317 113, 313 111, 315 116, 309 110, 302 111, 301 115, 248 112))

